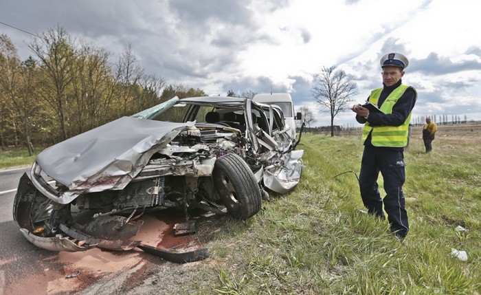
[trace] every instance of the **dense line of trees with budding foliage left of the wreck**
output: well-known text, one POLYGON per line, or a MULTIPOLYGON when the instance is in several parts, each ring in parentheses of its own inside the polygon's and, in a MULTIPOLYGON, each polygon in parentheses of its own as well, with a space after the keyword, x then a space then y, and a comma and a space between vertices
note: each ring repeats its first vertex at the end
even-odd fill
MULTIPOLYGON (((205 96, 201 89, 166 85, 146 74, 131 47, 112 54, 76 41, 58 26, 32 39, 21 61, 0 35, 0 149, 55 144, 174 96, 205 96)), ((174 116, 174 115, 172 115, 174 116)), ((167 118, 168 119, 168 118, 167 118)))

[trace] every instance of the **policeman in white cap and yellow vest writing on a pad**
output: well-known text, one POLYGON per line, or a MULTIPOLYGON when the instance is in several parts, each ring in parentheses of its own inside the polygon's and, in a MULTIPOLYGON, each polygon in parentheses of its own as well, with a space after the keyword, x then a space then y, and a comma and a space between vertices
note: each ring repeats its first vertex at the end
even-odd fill
POLYGON ((370 112, 354 105, 357 122, 364 124, 364 151, 359 173, 359 189, 368 212, 384 219, 388 214, 390 230, 403 239, 409 231, 403 184, 405 182, 404 146, 417 93, 403 85, 401 78, 409 62, 403 54, 390 53, 381 58, 383 87, 372 90, 368 101, 382 112, 370 112), (383 175, 385 197, 381 199, 377 177, 383 175))

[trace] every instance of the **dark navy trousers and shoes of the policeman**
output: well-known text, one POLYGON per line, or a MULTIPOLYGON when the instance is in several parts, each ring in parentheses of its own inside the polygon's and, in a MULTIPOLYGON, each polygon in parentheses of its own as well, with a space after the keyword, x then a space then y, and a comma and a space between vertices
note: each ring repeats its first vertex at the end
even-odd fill
POLYGON ((384 210, 388 214, 390 229, 396 236, 405 237, 409 230, 403 184, 406 179, 404 152, 378 146, 364 146, 359 173, 359 188, 364 206, 370 214, 384 219, 384 210), (377 177, 383 175, 386 196, 381 199, 377 177))

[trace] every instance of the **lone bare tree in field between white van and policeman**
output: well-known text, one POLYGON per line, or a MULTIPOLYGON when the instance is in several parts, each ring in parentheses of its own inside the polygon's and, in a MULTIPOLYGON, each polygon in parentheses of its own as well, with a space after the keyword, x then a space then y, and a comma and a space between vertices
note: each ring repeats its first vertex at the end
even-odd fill
POLYGON ((321 109, 331 114, 331 136, 334 136, 334 117, 349 109, 349 103, 357 94, 357 85, 342 69, 323 67, 313 76, 311 94, 321 109))

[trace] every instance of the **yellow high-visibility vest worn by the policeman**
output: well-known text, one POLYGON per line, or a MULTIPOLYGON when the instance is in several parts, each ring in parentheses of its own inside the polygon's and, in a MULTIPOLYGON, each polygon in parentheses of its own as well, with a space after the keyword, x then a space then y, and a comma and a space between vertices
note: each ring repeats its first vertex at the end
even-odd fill
MULTIPOLYGON (((381 111, 383 113, 392 113, 392 107, 401 98, 406 89, 409 86, 401 84, 399 87, 394 89, 391 94, 384 100, 383 105, 381 105, 381 111)), ((372 90, 368 100, 374 105, 377 105, 379 96, 381 96, 381 91, 383 89, 372 90)), ((362 143, 366 141, 369 133, 371 133, 371 144, 373 146, 392 146, 392 147, 403 147, 407 144, 407 133, 409 131, 409 123, 411 120, 411 113, 407 116, 406 120, 401 126, 376 126, 370 127, 369 122, 364 124, 364 129, 362 131, 362 143)))

